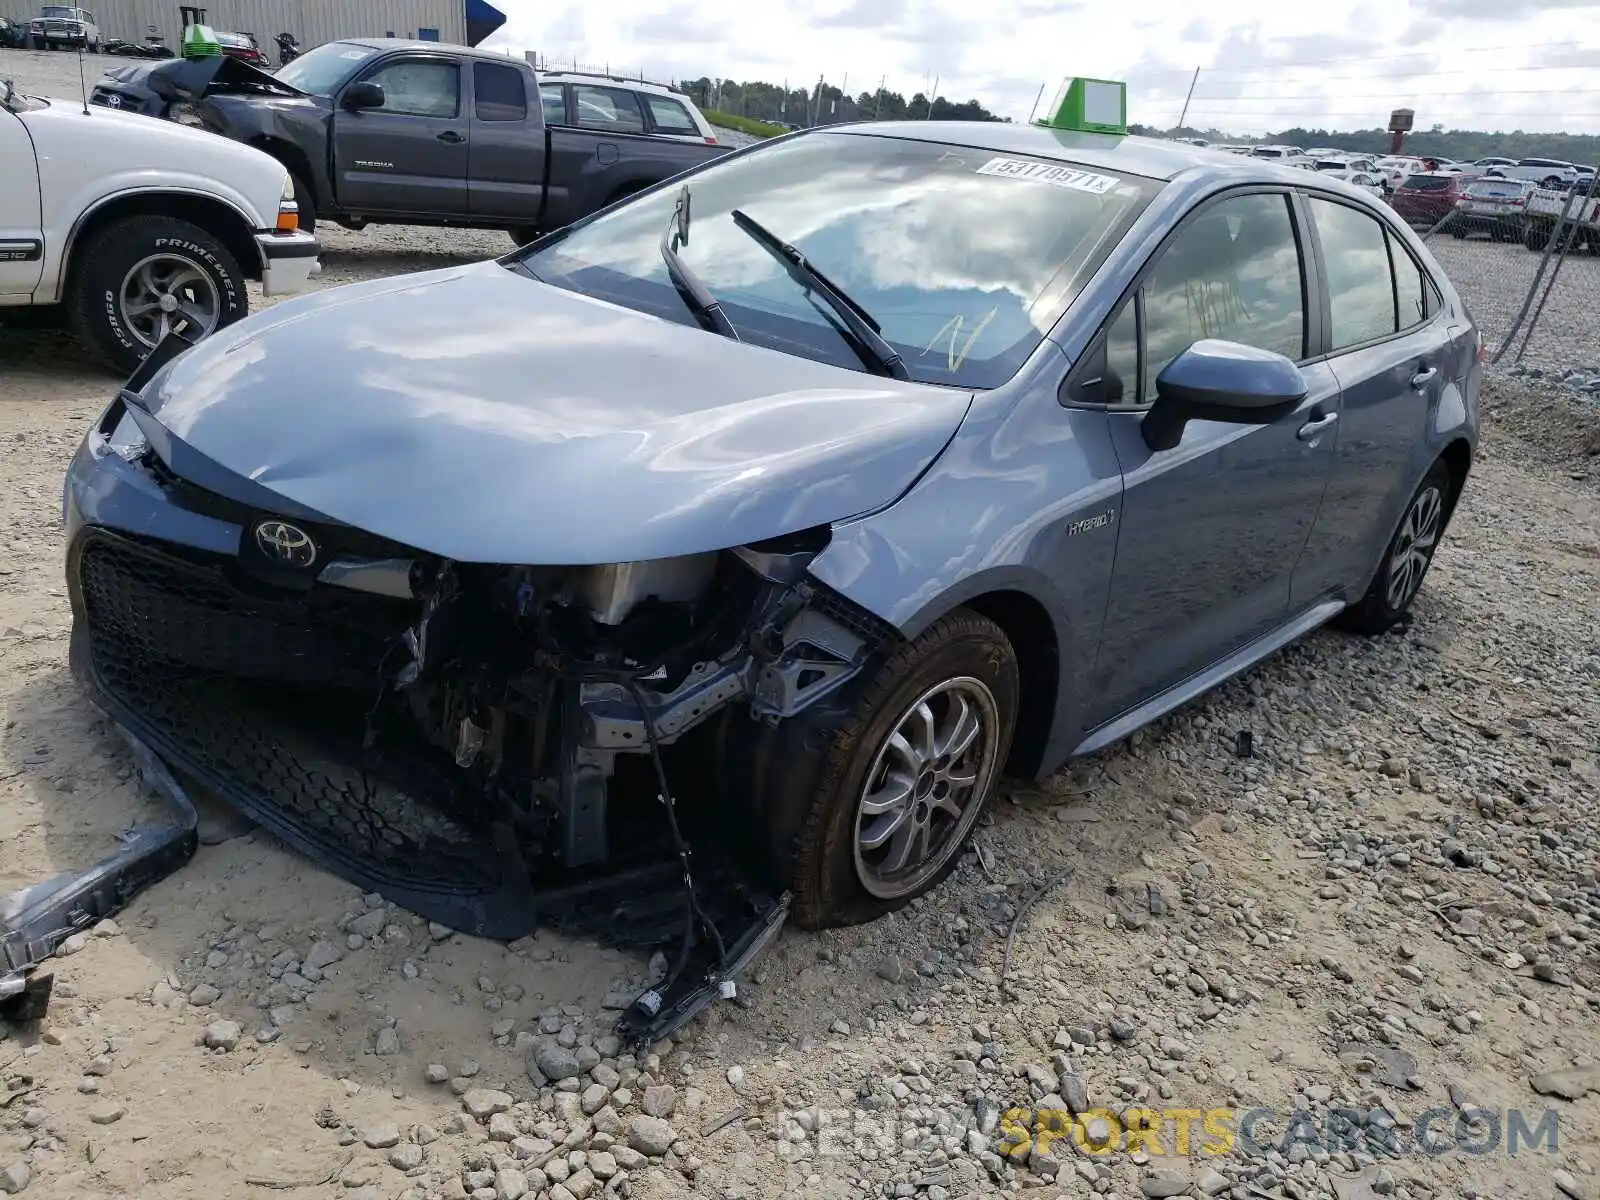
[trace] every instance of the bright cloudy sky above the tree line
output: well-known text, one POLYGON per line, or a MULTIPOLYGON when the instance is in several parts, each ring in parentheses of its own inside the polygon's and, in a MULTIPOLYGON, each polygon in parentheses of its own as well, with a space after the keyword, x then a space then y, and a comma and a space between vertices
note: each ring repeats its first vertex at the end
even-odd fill
POLYGON ((1394 107, 1418 128, 1600 131, 1600 0, 1410 0, 1299 8, 1234 0, 494 0, 488 45, 651 77, 789 80, 853 93, 886 75, 906 94, 978 98, 1026 120, 1066 74, 1128 80, 1130 118, 1262 133, 1371 128, 1394 107), (1226 16, 1224 16, 1226 13, 1226 16))

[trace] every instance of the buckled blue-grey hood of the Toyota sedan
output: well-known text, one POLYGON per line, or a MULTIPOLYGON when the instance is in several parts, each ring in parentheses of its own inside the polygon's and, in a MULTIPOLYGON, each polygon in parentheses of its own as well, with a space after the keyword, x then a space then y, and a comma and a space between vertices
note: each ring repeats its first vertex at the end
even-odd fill
POLYGON ((246 504, 282 496, 458 562, 582 565, 880 509, 971 394, 482 262, 280 304, 187 350, 142 403, 176 472, 246 504))

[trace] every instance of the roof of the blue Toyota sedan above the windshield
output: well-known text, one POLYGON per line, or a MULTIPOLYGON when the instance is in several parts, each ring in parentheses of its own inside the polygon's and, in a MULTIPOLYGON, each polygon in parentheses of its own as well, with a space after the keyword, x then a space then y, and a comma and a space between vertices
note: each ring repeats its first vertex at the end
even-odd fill
POLYGON ((1075 166, 1099 166, 1107 171, 1176 179, 1189 171, 1248 182, 1304 182, 1306 173, 1280 166, 1266 158, 1218 154, 1211 146, 1189 146, 1157 138, 1117 136, 1109 133, 1069 133, 1040 125, 1008 125, 1005 122, 859 122, 826 125, 811 133, 845 133, 869 138, 906 138, 910 141, 962 146, 994 154, 1026 154, 1075 166))

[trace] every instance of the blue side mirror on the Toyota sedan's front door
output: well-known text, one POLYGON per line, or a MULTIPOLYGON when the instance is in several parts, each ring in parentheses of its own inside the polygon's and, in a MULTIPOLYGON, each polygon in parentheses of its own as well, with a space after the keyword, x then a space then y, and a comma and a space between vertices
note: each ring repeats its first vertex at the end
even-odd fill
POLYGON ((1150 450, 1171 450, 1190 421, 1269 426, 1307 390, 1299 368, 1282 354, 1206 338, 1155 378, 1155 403, 1139 429, 1150 450))

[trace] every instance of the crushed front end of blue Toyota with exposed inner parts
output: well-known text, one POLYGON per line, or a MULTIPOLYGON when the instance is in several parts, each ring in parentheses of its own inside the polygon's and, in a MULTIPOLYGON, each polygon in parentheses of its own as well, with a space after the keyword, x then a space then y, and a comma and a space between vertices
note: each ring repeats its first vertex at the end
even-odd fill
POLYGON ((704 734, 795 717, 894 637, 806 574, 827 530, 459 563, 181 477, 136 408, 107 410, 64 498, 72 664, 118 723, 422 917, 664 949, 624 1014, 640 1038, 730 994, 787 896, 741 854, 750 806, 704 734))

